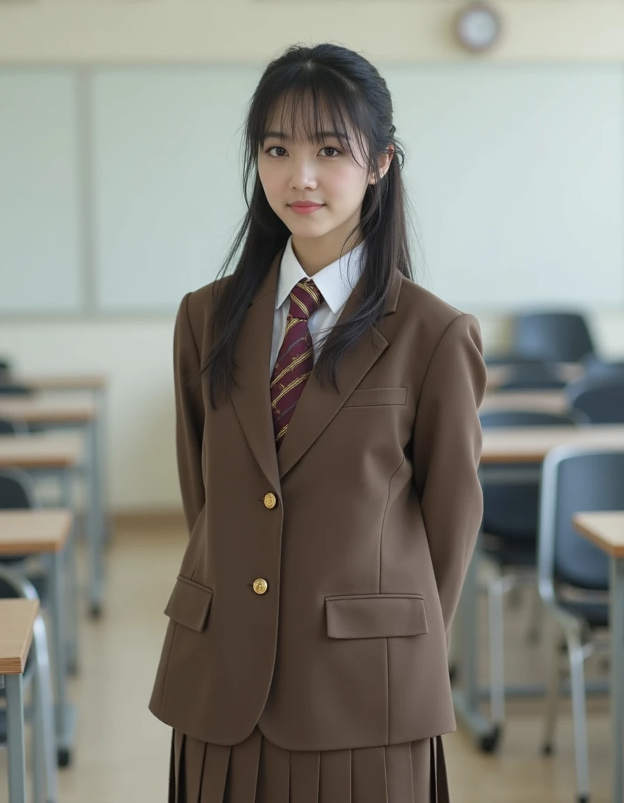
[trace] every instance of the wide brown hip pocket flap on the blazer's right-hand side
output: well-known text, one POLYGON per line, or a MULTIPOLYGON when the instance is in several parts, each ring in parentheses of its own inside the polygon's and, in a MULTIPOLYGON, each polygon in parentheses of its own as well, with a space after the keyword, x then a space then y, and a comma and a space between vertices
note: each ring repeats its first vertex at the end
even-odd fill
POLYGON ((326 597, 330 638, 394 638, 429 632, 420 594, 326 597))

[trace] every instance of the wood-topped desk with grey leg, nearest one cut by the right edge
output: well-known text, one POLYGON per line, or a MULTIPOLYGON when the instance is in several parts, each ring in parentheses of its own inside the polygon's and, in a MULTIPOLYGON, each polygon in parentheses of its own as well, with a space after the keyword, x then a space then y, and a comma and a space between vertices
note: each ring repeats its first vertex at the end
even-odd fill
POLYGON ((572 521, 610 556, 611 801, 624 803, 624 512, 577 513, 572 521))

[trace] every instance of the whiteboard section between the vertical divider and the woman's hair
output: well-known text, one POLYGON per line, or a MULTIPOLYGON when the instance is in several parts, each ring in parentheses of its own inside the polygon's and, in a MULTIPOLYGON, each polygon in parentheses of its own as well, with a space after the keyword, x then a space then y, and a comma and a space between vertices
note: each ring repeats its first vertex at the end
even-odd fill
POLYGON ((158 310, 212 281, 245 212, 249 67, 103 70, 91 96, 99 308, 158 310))

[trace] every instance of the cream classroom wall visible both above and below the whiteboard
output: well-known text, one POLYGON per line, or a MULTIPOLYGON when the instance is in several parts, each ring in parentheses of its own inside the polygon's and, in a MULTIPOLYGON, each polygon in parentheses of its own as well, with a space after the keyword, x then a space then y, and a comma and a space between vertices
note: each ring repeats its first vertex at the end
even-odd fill
MULTIPOLYGON (((453 41, 461 3, 419 0, 36 0, 0 5, 0 63, 184 63, 269 59, 286 43, 331 40, 379 63, 472 59, 453 41), (245 19, 245 25, 240 20, 245 19), (258 35, 261 31, 261 35, 258 35)), ((624 61, 621 0, 498 3, 505 36, 492 62, 624 61)), ((530 202, 530 199, 528 199, 530 202)), ((189 288, 190 289, 190 288, 189 288)), ((509 321, 480 315, 486 348, 509 321)), ((624 311, 594 310, 606 357, 624 358, 624 311)), ((0 320, 0 351, 28 373, 110 377, 109 489, 117 512, 179 506, 173 436, 172 318, 0 320)))

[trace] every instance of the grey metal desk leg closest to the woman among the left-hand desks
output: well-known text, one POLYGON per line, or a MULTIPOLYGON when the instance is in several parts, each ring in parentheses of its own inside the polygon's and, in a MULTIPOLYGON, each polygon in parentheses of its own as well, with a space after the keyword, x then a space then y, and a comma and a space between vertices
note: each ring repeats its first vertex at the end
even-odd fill
POLYGON ((87 495, 87 548, 88 548, 88 589, 90 613, 99 618, 103 604, 103 507, 100 494, 98 430, 96 422, 87 428, 89 470, 87 495))

